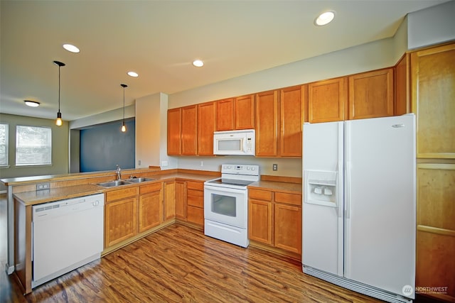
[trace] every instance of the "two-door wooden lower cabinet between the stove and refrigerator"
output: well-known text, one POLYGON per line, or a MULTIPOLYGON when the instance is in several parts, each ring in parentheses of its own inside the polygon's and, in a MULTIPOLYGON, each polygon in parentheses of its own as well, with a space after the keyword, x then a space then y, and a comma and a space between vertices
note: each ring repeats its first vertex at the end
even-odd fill
POLYGON ((248 238, 301 255, 301 194, 249 189, 248 238))

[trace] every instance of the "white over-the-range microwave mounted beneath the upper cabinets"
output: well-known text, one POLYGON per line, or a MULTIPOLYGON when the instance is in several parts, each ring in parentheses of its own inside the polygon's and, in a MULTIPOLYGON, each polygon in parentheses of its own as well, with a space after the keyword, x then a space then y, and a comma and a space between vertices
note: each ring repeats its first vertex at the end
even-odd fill
POLYGON ((255 130, 215 131, 214 155, 255 155, 255 130))

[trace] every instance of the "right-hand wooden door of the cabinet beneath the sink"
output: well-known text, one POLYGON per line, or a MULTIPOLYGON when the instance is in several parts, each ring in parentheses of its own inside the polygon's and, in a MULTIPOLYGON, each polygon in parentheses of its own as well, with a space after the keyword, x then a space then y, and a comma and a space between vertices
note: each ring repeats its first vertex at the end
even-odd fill
POLYGON ((163 192, 141 194, 139 197, 139 233, 163 223, 163 192))

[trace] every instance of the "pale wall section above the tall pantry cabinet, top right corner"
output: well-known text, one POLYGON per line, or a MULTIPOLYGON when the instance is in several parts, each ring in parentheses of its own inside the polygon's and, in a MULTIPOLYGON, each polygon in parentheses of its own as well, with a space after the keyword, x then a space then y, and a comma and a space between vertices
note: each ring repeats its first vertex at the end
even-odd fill
POLYGON ((421 48, 455 39, 455 1, 415 11, 408 16, 408 48, 421 48))

